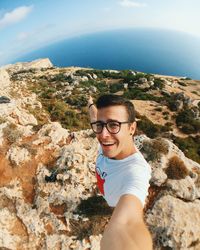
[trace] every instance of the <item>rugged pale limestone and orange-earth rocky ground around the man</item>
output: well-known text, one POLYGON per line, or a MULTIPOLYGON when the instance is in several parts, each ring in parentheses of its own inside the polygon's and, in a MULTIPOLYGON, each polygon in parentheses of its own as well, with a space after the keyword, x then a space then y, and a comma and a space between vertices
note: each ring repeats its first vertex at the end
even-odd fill
MULTIPOLYGON (((78 91, 76 86, 85 96, 97 93, 96 86, 79 85, 88 81, 76 75, 80 69, 53 68, 48 59, 0 69, 0 96, 8 98, 0 98, 0 249, 98 250, 112 214, 96 188, 94 134, 90 129, 74 131, 66 121, 52 119, 41 92, 35 87, 33 93, 38 79, 44 75, 54 79, 61 70, 73 81, 61 79, 65 91, 59 85, 53 95, 64 100, 78 91)), ((97 75, 87 74, 87 78, 95 80, 97 75)), ((142 89, 153 80, 140 81, 142 89)), ((119 82, 107 79, 107 84, 119 82)), ((199 83, 192 84, 193 88, 180 86, 176 78, 167 78, 165 91, 184 92, 184 98, 197 105, 199 83)), ((151 91, 159 96, 158 91, 151 91)), ((166 119, 155 112, 159 108, 155 101, 133 102, 140 116, 165 124, 166 119)), ((76 103, 72 107, 78 115, 76 103)), ((164 105, 162 112, 169 112, 167 121, 175 127, 173 112, 164 105)), ((178 128, 174 133, 185 136, 178 128)), ((154 249, 200 249, 200 164, 187 158, 169 137, 139 133, 134 140, 152 166, 144 216, 154 249)))

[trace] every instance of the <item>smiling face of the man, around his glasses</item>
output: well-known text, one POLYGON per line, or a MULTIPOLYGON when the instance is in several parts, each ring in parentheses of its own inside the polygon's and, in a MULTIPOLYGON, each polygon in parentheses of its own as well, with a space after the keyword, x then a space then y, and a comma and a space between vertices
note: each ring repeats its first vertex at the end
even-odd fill
MULTIPOLYGON (((124 106, 110 106, 98 109, 97 120, 102 122, 110 120, 126 122, 128 121, 128 114, 124 106)), ((104 155, 116 160, 131 155, 135 148, 130 134, 134 134, 135 127, 135 122, 132 124, 121 124, 120 131, 117 134, 111 134, 104 126, 102 133, 96 135, 104 155)))

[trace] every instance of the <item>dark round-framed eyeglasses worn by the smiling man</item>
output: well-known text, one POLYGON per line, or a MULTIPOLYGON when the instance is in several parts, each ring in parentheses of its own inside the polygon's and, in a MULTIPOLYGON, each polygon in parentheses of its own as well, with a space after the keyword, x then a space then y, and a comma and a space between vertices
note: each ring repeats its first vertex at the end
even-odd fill
POLYGON ((121 129, 121 124, 131 123, 131 122, 118 122, 118 121, 109 121, 109 122, 91 122, 90 125, 95 134, 101 134, 104 126, 110 134, 117 134, 121 129))

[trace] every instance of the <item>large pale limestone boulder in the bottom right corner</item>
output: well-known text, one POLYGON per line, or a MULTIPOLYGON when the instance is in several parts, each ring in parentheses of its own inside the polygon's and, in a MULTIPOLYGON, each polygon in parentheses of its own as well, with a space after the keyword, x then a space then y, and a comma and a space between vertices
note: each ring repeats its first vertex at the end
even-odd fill
POLYGON ((146 215, 157 246, 171 249, 199 249, 200 201, 184 202, 162 196, 146 215))

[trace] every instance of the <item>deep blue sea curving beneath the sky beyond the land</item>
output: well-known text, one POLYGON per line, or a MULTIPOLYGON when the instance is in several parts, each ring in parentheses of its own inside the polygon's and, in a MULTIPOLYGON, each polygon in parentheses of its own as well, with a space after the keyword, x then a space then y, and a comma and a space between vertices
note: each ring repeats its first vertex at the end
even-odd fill
POLYGON ((14 62, 46 57, 58 67, 130 69, 200 79, 200 38, 172 30, 135 28, 80 35, 32 51, 14 62))

